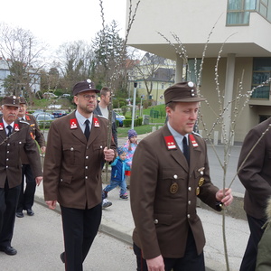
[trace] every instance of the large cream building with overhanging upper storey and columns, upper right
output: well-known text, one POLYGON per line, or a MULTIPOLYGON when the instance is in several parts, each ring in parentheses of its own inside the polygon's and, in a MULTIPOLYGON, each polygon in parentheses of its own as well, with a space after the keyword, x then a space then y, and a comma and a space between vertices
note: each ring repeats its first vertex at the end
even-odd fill
MULTIPOLYGON (((207 130, 221 138, 234 128, 234 141, 242 142, 251 127, 271 117, 268 2, 141 1, 128 44, 176 61, 175 81, 192 79, 207 98, 201 103, 207 130), (212 128, 220 114, 223 119, 212 128)), ((129 1, 127 16, 128 8, 129 1)))

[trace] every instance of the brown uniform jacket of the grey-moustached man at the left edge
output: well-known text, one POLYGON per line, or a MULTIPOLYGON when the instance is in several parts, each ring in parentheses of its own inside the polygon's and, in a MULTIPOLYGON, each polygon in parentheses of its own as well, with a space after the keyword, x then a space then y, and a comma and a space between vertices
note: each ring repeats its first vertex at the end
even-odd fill
POLYGON ((5 187, 7 178, 9 188, 22 182, 22 152, 27 154, 34 177, 42 176, 41 159, 38 147, 30 134, 30 126, 18 119, 14 121, 19 130, 7 138, 3 118, 0 118, 0 188, 5 187))

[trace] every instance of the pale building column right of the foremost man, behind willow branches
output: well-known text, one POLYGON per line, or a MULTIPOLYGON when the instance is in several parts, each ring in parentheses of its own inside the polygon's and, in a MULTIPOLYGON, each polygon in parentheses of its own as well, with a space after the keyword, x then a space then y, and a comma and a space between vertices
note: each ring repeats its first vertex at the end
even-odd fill
MULTIPOLYGON (((224 139, 230 140, 230 128, 231 128, 231 101, 233 97, 233 87, 234 87, 234 73, 235 73, 235 53, 229 53, 227 57, 227 68, 226 68, 226 82, 225 82, 225 98, 224 98, 224 108, 227 110, 224 113, 224 131, 221 135, 221 142, 224 139)), ((233 142, 232 142, 233 144, 233 142)))

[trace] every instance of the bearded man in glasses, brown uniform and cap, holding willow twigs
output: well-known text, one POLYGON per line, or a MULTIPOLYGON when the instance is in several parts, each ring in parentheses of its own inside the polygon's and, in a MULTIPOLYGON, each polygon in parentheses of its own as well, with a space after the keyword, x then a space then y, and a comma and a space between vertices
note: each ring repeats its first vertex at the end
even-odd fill
POLYGON ((49 208, 61 205, 68 271, 81 271, 101 220, 101 164, 113 161, 116 147, 107 149, 107 124, 93 114, 97 106, 94 84, 73 87, 76 111, 52 122, 44 161, 44 198, 49 208), (90 135, 89 135, 90 134, 90 135))

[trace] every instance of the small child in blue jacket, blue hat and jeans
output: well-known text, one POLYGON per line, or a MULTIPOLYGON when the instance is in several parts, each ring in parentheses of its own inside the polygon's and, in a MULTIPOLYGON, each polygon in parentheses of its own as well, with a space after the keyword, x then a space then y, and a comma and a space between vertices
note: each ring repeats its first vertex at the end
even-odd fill
POLYGON ((124 147, 117 148, 117 158, 111 164, 111 179, 110 184, 104 189, 104 196, 107 198, 107 193, 117 186, 120 187, 119 198, 122 200, 128 200, 128 195, 126 193, 126 178, 125 172, 130 170, 129 166, 126 164, 126 149, 124 147))

